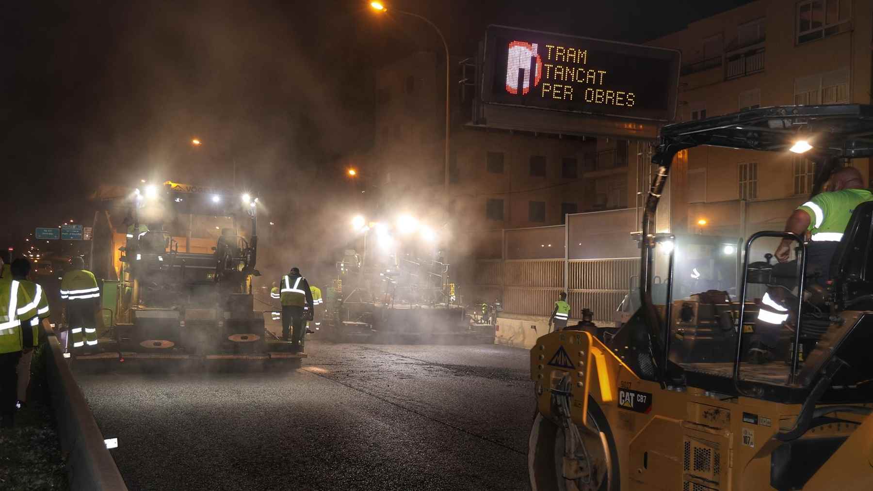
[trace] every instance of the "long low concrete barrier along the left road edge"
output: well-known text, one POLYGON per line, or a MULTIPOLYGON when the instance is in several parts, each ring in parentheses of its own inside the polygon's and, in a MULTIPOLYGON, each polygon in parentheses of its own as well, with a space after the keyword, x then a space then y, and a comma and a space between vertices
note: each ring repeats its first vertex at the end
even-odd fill
POLYGON ((85 395, 72 378, 63 349, 54 333, 46 337, 45 357, 52 411, 72 491, 126 491, 118 467, 103 440, 85 395))

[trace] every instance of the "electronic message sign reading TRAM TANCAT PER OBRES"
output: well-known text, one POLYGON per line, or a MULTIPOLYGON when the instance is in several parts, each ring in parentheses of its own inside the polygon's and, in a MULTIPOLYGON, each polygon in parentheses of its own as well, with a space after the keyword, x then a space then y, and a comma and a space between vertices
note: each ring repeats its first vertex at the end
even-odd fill
POLYGON ((679 51, 490 25, 482 101, 669 121, 679 51))

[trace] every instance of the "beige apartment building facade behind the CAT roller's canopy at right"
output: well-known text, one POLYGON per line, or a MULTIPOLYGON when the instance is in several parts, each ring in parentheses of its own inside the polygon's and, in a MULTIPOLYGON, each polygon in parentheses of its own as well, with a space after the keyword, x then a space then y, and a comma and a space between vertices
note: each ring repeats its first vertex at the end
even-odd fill
MULTIPOLYGON (((758 0, 650 44, 682 51, 677 119, 754 107, 870 104, 870 0, 758 0)), ((869 162, 853 165, 869 175, 869 162)), ((808 199, 815 162, 713 147, 687 153, 686 229, 780 229, 808 199), (705 225, 698 225, 698 222, 705 225)))

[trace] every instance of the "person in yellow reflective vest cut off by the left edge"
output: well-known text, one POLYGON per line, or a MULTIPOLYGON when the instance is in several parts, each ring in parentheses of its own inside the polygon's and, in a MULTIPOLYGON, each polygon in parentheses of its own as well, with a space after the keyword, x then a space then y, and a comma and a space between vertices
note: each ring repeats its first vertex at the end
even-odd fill
POLYGON ((0 252, 0 265, 0 426, 11 427, 16 412, 18 360, 24 346, 33 344, 32 331, 21 324, 36 316, 37 303, 12 277, 8 251, 0 252))

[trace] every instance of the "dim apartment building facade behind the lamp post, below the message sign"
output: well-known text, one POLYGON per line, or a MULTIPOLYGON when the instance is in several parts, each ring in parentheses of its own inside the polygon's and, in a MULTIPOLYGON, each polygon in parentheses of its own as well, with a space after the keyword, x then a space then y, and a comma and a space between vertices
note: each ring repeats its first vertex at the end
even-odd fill
POLYGON ((442 60, 422 51, 377 72, 382 208, 448 206, 455 228, 470 230, 558 225, 567 214, 634 206, 641 143, 473 126, 472 72, 462 58, 452 70, 448 193, 442 60))

